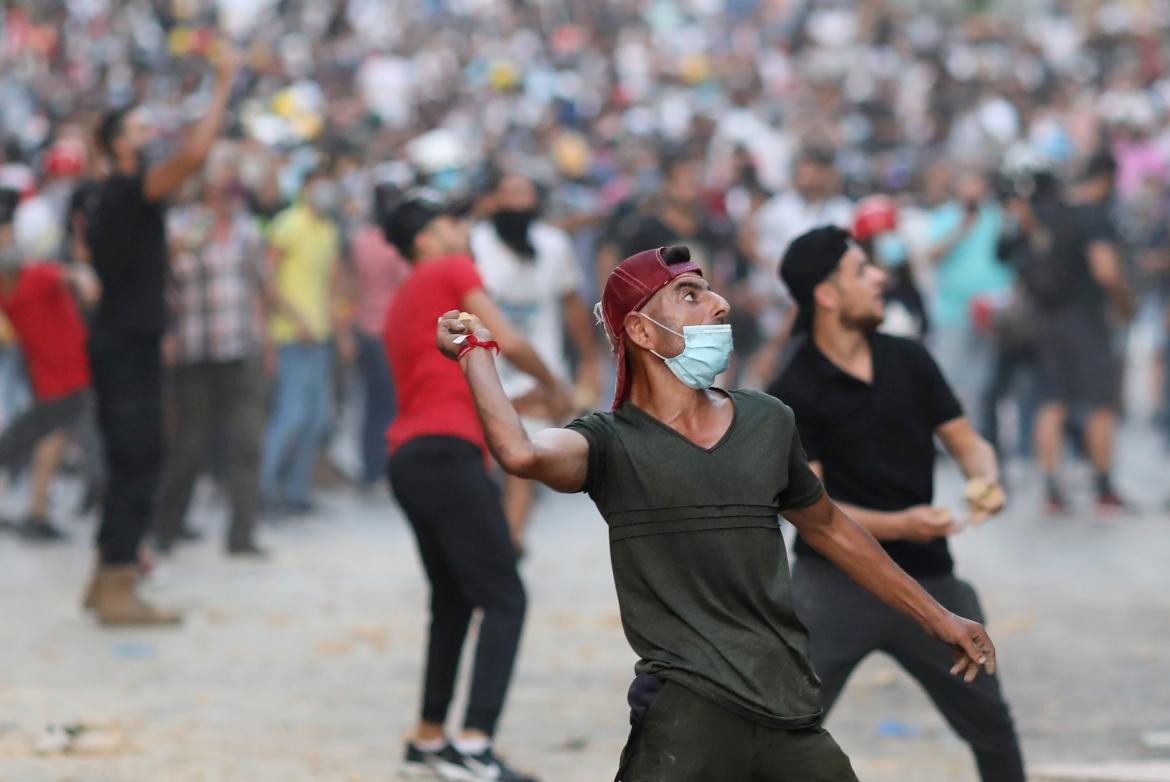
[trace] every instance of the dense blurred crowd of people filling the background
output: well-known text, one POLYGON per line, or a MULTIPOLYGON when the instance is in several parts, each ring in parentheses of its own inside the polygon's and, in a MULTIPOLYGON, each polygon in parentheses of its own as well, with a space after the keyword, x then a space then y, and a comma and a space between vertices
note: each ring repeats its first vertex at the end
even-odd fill
MULTIPOLYGON (((461 203, 481 245, 532 249, 536 226, 563 241, 584 302, 622 258, 688 245, 732 303, 725 384, 751 387, 789 349, 787 242, 849 228, 889 270, 886 328, 928 342, 1006 454, 1031 459, 1035 443, 1049 506, 1065 503, 1066 431, 1083 434, 1099 500, 1121 506, 1113 421, 1094 413, 1123 410, 1123 383, 1141 383, 1141 414, 1170 443, 1168 21, 1165 4, 1089 0, 9 2, 0 188, 14 231, 0 276, 56 265, 67 272, 46 279, 90 311, 98 118, 142 107, 144 155, 163 159, 206 112, 207 62, 230 40, 243 68, 228 124, 166 217, 161 548, 194 534, 184 513, 205 466, 243 527, 252 506, 310 510, 315 482, 380 482, 394 412, 383 321, 408 273, 383 218, 418 187, 461 203), (1087 274, 1059 266, 1072 256, 1087 274), (1065 371, 1086 349, 1138 369, 1065 371), (249 371, 207 370, 238 363, 249 371), (255 499, 228 486, 248 481, 255 499)), ((18 332, 0 352, 6 425, 44 400, 18 332)), ((592 368, 578 335, 570 324, 549 348, 566 375, 592 368)), ((579 404, 606 399, 601 383, 578 383, 579 404)), ((84 455, 89 405, 76 406, 53 419, 69 441, 0 452, 11 471, 46 465, 42 482, 76 465, 91 506, 101 468, 84 455)), ((36 488, 20 520, 33 537, 58 534, 47 496, 36 488)))

